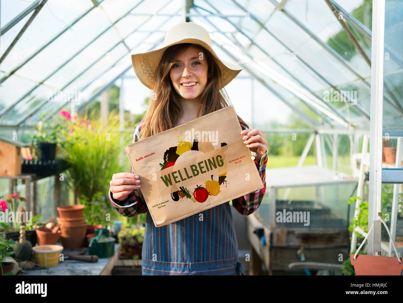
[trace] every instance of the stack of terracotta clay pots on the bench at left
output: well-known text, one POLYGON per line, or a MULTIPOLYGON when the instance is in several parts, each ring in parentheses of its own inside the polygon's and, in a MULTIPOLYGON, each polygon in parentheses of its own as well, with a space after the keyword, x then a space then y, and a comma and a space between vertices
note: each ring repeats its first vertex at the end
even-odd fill
POLYGON ((84 205, 67 205, 57 208, 60 217, 60 240, 67 249, 81 248, 87 233, 88 224, 85 223, 84 205))

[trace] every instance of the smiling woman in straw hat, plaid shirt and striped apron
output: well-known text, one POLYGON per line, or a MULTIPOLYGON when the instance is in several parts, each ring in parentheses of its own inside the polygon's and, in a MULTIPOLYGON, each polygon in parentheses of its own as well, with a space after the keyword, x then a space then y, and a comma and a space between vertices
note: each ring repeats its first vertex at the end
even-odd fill
MULTIPOLYGON (((241 71, 224 63, 211 47, 208 32, 194 23, 172 27, 159 50, 132 55, 137 77, 152 89, 145 118, 136 127, 133 142, 214 112, 229 104, 224 86, 241 71)), ((239 117, 238 117, 239 118, 239 117)), ((232 200, 247 216, 260 205, 265 189, 267 141, 258 129, 239 118, 246 146, 256 150, 254 160, 264 188, 232 200)), ((122 216, 147 213, 142 250, 143 275, 245 274, 238 259, 229 201, 177 222, 155 227, 139 176, 120 172, 112 176, 109 198, 122 216), (203 220, 200 220, 203 218, 203 220)))

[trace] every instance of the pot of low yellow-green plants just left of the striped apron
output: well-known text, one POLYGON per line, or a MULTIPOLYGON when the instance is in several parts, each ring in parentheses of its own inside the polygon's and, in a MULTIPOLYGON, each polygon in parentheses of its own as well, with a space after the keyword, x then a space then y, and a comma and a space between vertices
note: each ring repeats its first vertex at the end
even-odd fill
POLYGON ((129 259, 141 259, 145 228, 123 228, 118 233, 121 257, 129 259), (138 256, 138 257, 135 257, 138 256))

